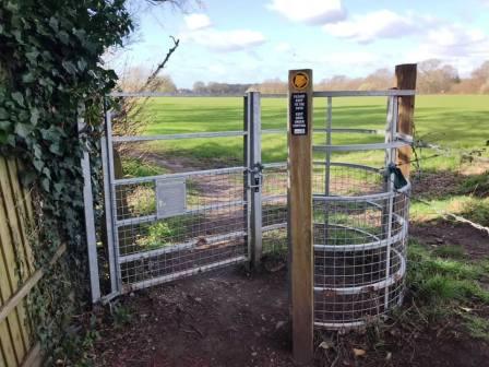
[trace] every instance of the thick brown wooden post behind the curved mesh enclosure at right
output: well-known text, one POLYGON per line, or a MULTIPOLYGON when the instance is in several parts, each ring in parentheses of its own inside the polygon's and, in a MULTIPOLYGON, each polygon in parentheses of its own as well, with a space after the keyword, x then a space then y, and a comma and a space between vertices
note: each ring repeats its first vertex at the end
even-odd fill
MULTIPOLYGON (((405 63, 395 67, 397 90, 416 90, 416 63, 405 63)), ((413 134, 415 114, 415 96, 399 97, 397 132, 413 134)), ((410 173, 410 146, 399 147, 397 151, 397 164, 404 177, 409 178, 410 173)))

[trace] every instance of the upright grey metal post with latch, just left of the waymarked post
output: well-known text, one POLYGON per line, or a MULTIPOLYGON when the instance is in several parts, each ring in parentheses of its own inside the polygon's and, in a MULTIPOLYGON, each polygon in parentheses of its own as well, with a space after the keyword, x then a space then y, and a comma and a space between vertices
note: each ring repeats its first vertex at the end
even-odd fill
POLYGON ((250 173, 250 235, 251 262, 260 264, 262 258, 262 149, 261 100, 259 92, 247 93, 249 173, 250 173))

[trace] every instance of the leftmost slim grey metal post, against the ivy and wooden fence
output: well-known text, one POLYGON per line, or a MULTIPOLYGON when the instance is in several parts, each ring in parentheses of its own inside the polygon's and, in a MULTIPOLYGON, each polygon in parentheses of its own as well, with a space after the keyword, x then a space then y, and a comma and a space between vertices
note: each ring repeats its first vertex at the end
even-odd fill
MULTIPOLYGON (((85 107, 82 104, 80 104, 77 108, 79 132, 81 132, 86 127, 85 119, 83 118, 84 110, 85 107)), ((97 240, 95 238, 92 171, 90 167, 90 154, 87 152, 86 146, 84 146, 83 149, 82 171, 83 171, 83 201, 85 212, 86 246, 88 250, 90 286, 92 289, 92 301, 95 304, 100 299, 100 281, 98 274, 97 240)))

